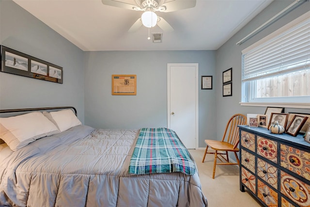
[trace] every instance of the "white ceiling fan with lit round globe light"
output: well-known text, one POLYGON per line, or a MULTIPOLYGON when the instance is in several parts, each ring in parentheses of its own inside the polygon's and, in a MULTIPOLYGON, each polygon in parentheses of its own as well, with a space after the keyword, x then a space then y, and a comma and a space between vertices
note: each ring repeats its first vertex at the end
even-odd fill
POLYGON ((163 31, 171 32, 173 27, 164 18, 157 16, 155 12, 173 12, 196 6, 196 0, 131 0, 131 2, 133 4, 119 0, 102 0, 102 3, 105 5, 134 11, 144 11, 128 32, 136 32, 141 25, 151 28, 156 24, 163 31))

